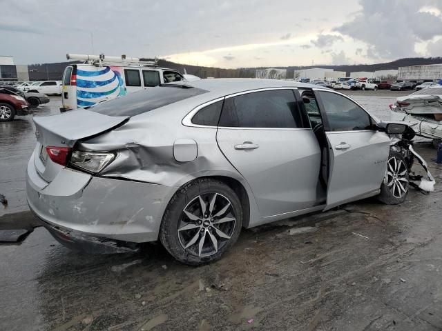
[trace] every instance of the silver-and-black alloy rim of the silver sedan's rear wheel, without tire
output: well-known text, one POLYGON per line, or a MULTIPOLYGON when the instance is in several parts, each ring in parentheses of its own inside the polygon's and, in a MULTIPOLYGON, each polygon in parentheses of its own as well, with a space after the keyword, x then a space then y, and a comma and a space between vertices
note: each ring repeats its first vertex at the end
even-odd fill
POLYGON ((227 244, 235 225, 235 211, 227 197, 219 193, 200 194, 182 211, 178 238, 186 252, 209 257, 227 244))

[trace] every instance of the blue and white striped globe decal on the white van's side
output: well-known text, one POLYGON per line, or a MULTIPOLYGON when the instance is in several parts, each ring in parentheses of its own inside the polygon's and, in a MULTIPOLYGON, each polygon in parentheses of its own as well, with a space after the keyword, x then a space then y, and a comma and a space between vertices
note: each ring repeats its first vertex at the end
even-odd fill
POLYGON ((89 107, 126 94, 121 67, 77 67, 77 106, 89 107))

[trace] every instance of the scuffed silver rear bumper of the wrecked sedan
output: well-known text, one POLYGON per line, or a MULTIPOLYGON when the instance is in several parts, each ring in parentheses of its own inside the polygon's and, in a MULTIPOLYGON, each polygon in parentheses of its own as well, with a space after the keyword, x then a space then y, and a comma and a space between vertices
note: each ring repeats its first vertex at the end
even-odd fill
POLYGON ((68 168, 47 183, 35 169, 33 154, 26 190, 32 212, 66 245, 156 241, 175 192, 165 185, 93 177, 68 168))

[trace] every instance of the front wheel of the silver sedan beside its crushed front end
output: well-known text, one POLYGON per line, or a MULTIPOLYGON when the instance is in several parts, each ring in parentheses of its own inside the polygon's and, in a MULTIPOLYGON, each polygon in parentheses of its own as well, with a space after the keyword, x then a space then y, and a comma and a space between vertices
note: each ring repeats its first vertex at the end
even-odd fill
POLYGON ((381 185, 378 200, 386 205, 398 205, 405 201, 409 184, 408 167, 400 152, 390 150, 387 161, 387 172, 381 185))

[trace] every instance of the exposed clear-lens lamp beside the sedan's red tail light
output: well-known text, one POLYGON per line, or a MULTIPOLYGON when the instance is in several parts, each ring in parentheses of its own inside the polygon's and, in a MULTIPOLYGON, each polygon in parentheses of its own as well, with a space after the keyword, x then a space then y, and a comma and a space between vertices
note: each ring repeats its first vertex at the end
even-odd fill
POLYGON ((70 157, 70 165, 86 172, 97 174, 115 159, 114 153, 84 152, 75 150, 70 157))

